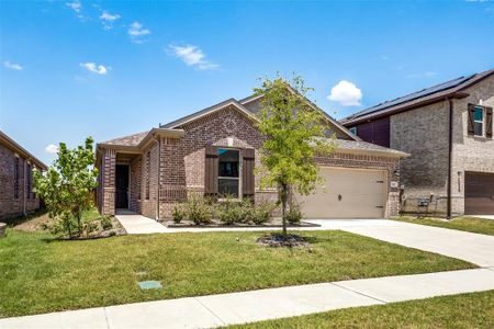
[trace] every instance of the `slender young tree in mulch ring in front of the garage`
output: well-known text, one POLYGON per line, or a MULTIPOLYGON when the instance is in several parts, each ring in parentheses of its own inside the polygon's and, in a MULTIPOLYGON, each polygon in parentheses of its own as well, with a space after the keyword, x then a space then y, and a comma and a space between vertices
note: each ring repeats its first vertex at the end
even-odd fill
POLYGON ((257 172, 262 185, 278 188, 283 236, 290 194, 296 191, 306 195, 322 183, 314 156, 334 151, 334 137, 328 139, 325 135, 326 118, 305 98, 312 90, 301 77, 289 82, 280 76, 266 78, 260 88, 255 88, 256 94, 263 95, 258 127, 266 137, 257 172))

